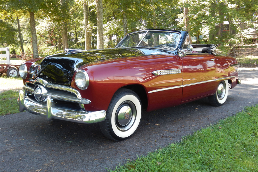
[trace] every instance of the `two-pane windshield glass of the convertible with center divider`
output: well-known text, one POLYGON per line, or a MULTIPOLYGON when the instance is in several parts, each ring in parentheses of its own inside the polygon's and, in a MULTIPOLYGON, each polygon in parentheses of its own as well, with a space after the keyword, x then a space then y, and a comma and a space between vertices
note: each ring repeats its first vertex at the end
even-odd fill
POLYGON ((180 34, 168 31, 143 31, 131 34, 117 47, 157 47, 175 50, 179 43, 180 34))

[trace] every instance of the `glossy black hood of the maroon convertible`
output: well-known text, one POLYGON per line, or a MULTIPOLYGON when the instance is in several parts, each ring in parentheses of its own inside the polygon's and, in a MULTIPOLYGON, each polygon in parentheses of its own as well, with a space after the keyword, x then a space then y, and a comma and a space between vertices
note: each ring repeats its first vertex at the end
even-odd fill
POLYGON ((54 54, 34 62, 30 67, 30 78, 41 77, 48 82, 70 85, 74 72, 85 64, 141 55, 144 53, 136 48, 109 48, 54 54))

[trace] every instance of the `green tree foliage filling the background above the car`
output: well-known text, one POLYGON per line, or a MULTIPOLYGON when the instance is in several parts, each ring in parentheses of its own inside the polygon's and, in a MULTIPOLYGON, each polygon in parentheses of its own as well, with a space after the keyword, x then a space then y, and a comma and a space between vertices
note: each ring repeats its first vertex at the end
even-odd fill
MULTIPOLYGON (((85 47, 83 4, 88 4, 92 46, 96 47, 96 2, 94 0, 71 1, 1 1, 1 46, 16 47, 20 52, 16 17, 20 19, 25 52, 31 52, 31 33, 28 12, 35 13, 39 54, 58 51, 58 38, 64 26, 68 29, 68 44, 72 48, 85 47), (50 49, 50 50, 48 50, 50 49)), ((223 54, 243 45, 243 39, 251 39, 238 23, 257 28, 258 1, 103 1, 105 47, 115 46, 123 37, 123 14, 127 16, 128 33, 141 29, 185 30, 183 7, 188 7, 191 36, 202 35, 199 43, 219 43, 223 54), (232 33, 220 36, 218 24, 228 21, 232 33), (237 34, 240 34, 237 35, 237 34), (214 35, 211 36, 211 35, 214 35), (112 37, 112 41, 110 41, 112 37), (234 47, 233 47, 233 46, 234 47)))

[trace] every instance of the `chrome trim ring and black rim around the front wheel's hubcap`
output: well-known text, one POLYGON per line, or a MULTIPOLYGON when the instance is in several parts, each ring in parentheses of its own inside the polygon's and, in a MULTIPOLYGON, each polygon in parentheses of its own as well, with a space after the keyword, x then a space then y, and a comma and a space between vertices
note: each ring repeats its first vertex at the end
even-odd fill
POLYGON ((133 104, 133 102, 125 101, 125 102, 121 103, 119 105, 119 107, 117 108, 116 116, 115 116, 115 124, 116 124, 117 129, 119 129, 120 131, 126 131, 126 130, 130 129, 133 126, 134 122, 135 122, 136 114, 137 114, 137 111, 136 111, 136 107, 133 104), (127 124, 124 125, 124 126, 121 126, 121 125, 119 125, 119 122, 118 122, 118 112, 125 105, 129 105, 130 106, 130 108, 131 108, 131 115, 130 115, 130 119, 127 122, 127 124))

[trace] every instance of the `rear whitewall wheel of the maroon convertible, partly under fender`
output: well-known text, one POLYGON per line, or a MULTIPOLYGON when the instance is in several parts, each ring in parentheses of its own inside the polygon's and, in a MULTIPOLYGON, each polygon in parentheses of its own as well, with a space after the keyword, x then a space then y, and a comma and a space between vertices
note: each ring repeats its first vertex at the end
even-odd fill
POLYGON ((228 97, 228 80, 221 81, 217 87, 216 94, 209 96, 209 102, 213 106, 221 106, 225 103, 228 97))

